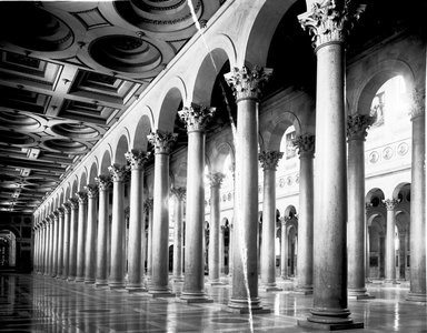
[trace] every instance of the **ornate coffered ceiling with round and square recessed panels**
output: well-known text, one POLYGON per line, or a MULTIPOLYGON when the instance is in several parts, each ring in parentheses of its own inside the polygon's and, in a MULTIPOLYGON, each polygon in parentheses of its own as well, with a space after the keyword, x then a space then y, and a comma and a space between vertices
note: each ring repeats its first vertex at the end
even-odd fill
MULTIPOLYGON (((192 0, 200 22, 224 1, 192 0)), ((32 212, 196 33, 187 0, 0 2, 0 210, 32 212)))

